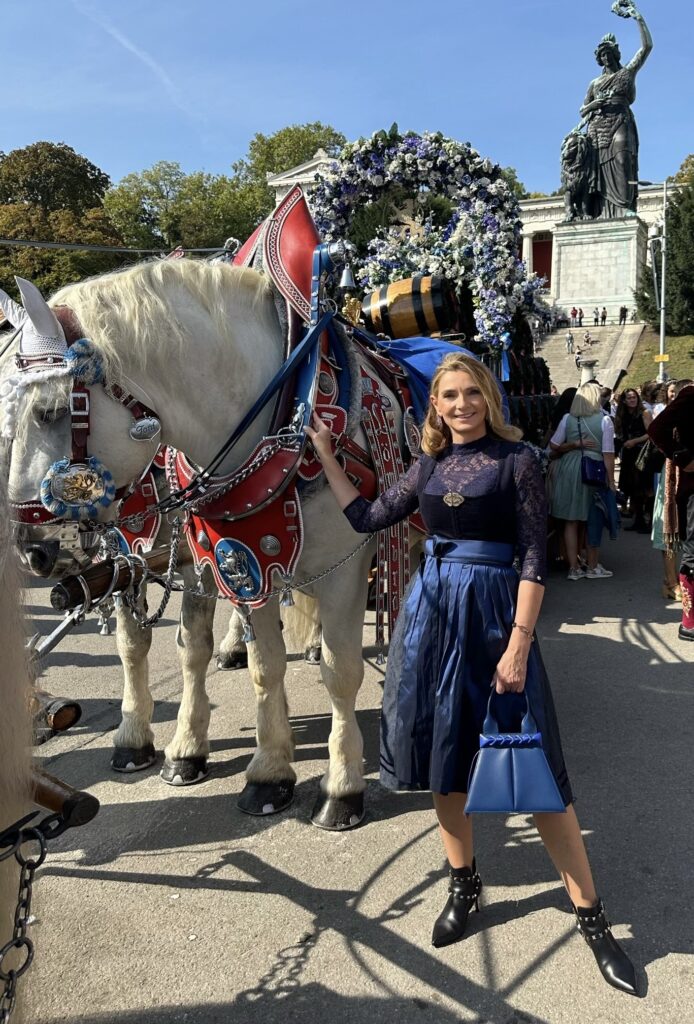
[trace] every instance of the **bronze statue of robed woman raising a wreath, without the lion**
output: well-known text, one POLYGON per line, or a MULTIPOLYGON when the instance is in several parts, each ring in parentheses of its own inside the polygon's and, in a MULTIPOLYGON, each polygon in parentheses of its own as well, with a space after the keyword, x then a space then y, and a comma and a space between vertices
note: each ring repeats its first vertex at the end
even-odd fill
POLYGON ((617 40, 610 34, 595 51, 603 72, 591 82, 580 109, 583 125, 594 150, 591 191, 594 216, 623 217, 636 213, 639 177, 639 135, 632 113, 636 99, 636 77, 653 49, 653 39, 643 15, 632 0, 617 0, 612 10, 633 17, 641 33, 641 48, 622 67, 617 40))

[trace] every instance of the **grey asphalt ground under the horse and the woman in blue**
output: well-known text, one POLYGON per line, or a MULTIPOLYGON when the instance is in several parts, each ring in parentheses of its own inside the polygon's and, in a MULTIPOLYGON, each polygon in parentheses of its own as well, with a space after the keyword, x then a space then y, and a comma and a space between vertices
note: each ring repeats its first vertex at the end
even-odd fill
MULTIPOLYGON (((638 965, 642 998, 603 982, 526 816, 478 821, 481 913, 463 942, 430 945, 444 861, 430 796, 393 795, 377 781, 383 670, 371 614, 358 697, 368 810, 342 835, 310 824, 330 730, 318 669, 299 655, 289 665, 296 800, 284 814, 252 818, 236 808, 254 746, 248 674, 210 669, 207 781, 174 790, 155 767, 114 774, 119 662, 115 637, 99 636, 90 618, 41 679, 80 700, 82 721, 37 754, 101 810, 51 844, 39 871, 27 1020, 694 1022, 694 644, 677 638, 679 609, 660 597, 660 554, 648 538, 622 535, 602 560, 613 579, 551 574, 538 636, 599 892, 638 965)), ((160 762, 179 693, 176 602, 151 651, 160 762)), ((57 620, 47 590, 29 591, 27 605, 49 632, 57 620)))

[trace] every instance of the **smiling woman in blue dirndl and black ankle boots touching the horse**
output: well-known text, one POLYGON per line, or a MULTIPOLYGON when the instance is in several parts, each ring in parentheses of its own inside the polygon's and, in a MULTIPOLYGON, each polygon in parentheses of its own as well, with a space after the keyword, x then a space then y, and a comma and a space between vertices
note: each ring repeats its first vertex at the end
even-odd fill
POLYGON ((501 731, 517 731, 527 697, 543 735, 564 813, 536 814, 577 927, 605 980, 636 993, 634 967, 614 939, 598 898, 564 765, 535 623, 545 593, 545 486, 531 449, 504 420, 491 373, 467 355, 446 355, 431 383, 422 457, 375 502, 361 498, 335 459, 330 429, 307 432, 326 477, 355 529, 384 529, 418 507, 428 538, 398 618, 388 657, 381 728, 381 781, 431 790, 450 866, 448 899, 432 942, 462 939, 482 883, 468 777, 490 689, 501 731), (518 554, 520 579, 514 568, 518 554))

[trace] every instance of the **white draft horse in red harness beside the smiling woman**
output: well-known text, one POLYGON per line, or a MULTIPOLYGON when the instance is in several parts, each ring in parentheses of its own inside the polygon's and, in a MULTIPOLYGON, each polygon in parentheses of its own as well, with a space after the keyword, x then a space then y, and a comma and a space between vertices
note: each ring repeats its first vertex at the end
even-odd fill
MULTIPOLYGON (((73 311, 103 360, 105 378, 122 382, 157 412, 162 423, 159 440, 185 452, 200 466, 207 465, 221 447, 284 359, 272 294, 266 280, 253 270, 188 260, 146 263, 64 288, 51 304, 73 311)), ((43 317, 45 324, 48 306, 32 315, 43 317)), ((70 384, 60 378, 48 379, 26 389, 10 462, 13 503, 36 501, 50 466, 71 452, 70 384)), ((395 408, 392 394, 384 391, 395 408)), ((243 464, 267 432, 269 419, 266 410, 243 435, 232 461, 219 467, 220 472, 243 464)), ((136 478, 154 455, 146 442, 130 437, 131 422, 123 406, 102 388, 92 388, 89 454, 109 467, 117 486, 136 478)), ((365 446, 360 430, 355 439, 365 446)), ((314 492, 302 511, 305 544, 295 578, 298 583, 335 565, 362 540, 328 488, 314 492)), ((103 510, 99 517, 105 521, 110 514, 111 509, 103 510)), ((50 546, 33 543, 31 526, 23 528, 21 546, 25 552, 39 549, 47 562, 55 557, 50 546)), ((361 632, 373 553, 371 543, 308 589, 318 601, 320 667, 333 705, 330 764, 312 818, 329 828, 351 827, 363 816, 362 739, 354 707, 363 676, 361 632)), ((44 564, 44 574, 45 570, 44 564)), ((186 577, 193 582, 189 571, 186 577)), ((177 777, 192 781, 206 772, 210 709, 205 674, 212 655, 214 606, 213 600, 183 598, 178 637, 183 694, 163 768, 170 781, 177 777)), ((294 744, 284 689, 287 657, 276 599, 256 610, 253 622, 256 640, 249 643, 248 653, 258 705, 257 750, 247 770, 240 807, 264 814, 291 802, 296 775, 291 764, 294 744)), ((149 637, 133 626, 130 616, 120 614, 118 643, 126 678, 115 758, 127 764, 145 760, 151 752, 149 637)))

